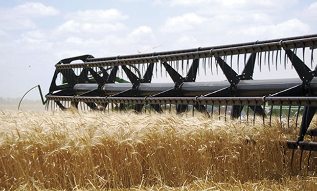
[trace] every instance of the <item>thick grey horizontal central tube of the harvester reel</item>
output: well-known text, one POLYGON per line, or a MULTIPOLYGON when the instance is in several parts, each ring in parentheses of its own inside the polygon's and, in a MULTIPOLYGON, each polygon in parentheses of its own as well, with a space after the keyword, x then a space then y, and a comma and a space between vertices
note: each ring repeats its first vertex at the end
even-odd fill
MULTIPOLYGON (((302 81, 298 78, 242 80, 237 85, 236 92, 238 96, 264 96, 301 84, 302 81)), ((140 84, 136 90, 138 91, 139 96, 151 96, 172 89, 174 86, 173 83, 144 83, 140 84)), ((229 86, 230 84, 228 81, 185 82, 179 87, 179 90, 180 95, 182 96, 195 97, 206 95, 229 86)), ((73 90, 75 93, 79 93, 94 90, 96 88, 98 88, 97 84, 77 84, 74 86, 73 90)), ((131 88, 132 85, 129 83, 119 83, 104 84, 101 90, 104 91, 105 95, 110 96, 131 88)), ((310 89, 313 95, 317 95, 317 78, 312 79, 310 89)))

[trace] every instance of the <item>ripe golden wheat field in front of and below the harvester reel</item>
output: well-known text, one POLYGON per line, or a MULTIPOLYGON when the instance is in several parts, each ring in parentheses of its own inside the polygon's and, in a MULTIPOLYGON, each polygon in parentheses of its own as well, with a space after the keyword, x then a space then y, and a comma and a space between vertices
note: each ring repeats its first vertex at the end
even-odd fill
POLYGON ((3 190, 317 190, 315 153, 309 172, 307 151, 290 168, 293 121, 0 111, 0 122, 3 190))

